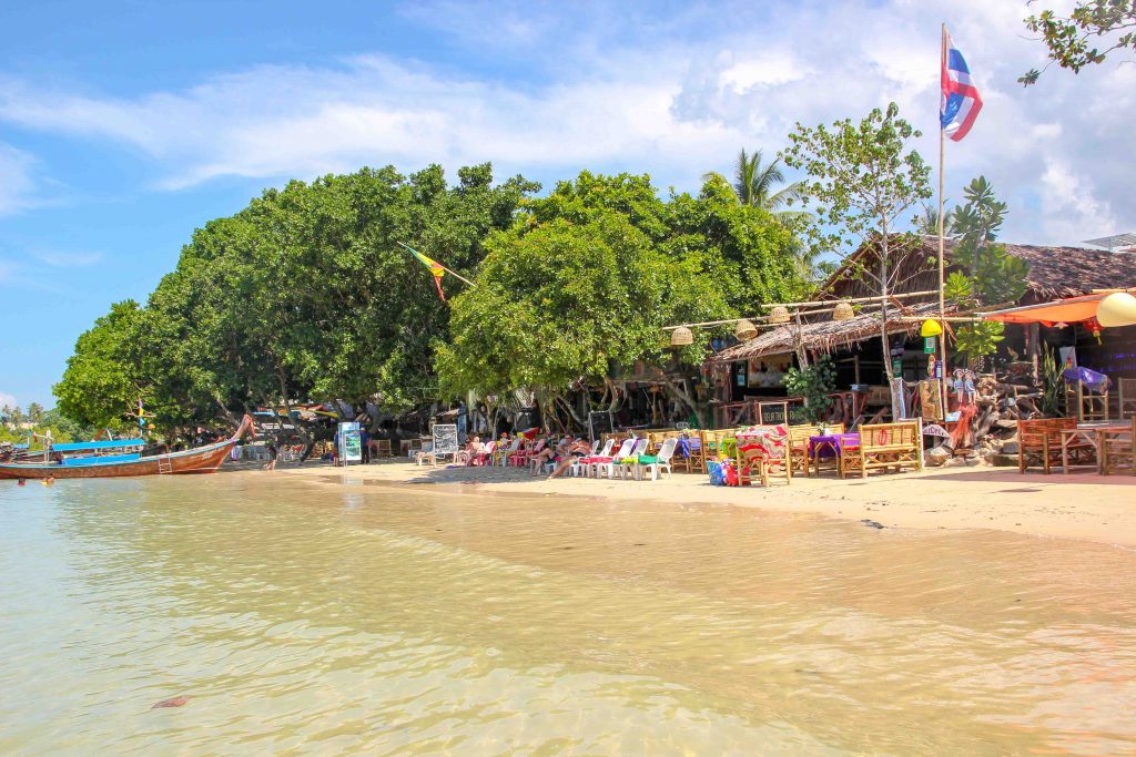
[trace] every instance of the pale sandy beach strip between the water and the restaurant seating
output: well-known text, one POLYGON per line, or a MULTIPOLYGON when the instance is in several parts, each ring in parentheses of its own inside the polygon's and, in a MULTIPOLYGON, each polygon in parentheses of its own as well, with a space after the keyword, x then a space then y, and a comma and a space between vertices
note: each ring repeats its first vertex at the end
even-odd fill
POLYGON ((287 466, 275 476, 340 485, 432 486, 456 496, 565 496, 590 499, 720 504, 768 511, 871 520, 886 528, 994 529, 1136 547, 1136 477, 1091 473, 1019 474, 1008 468, 950 468, 922 473, 841 480, 830 472, 794 477, 768 489, 713 487, 704 476, 676 473, 659 481, 529 478, 515 468, 418 466, 403 460, 349 469, 287 466))

